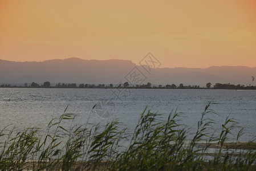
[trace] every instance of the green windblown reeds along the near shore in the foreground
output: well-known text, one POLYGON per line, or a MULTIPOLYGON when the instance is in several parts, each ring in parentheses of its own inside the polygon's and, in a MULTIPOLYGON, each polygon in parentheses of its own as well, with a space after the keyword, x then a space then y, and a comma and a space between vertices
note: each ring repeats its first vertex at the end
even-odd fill
POLYGON ((227 143, 233 119, 226 118, 220 135, 213 136, 213 120, 207 119, 210 103, 202 112, 197 131, 188 140, 188 129, 178 124, 180 114, 171 112, 165 121, 147 108, 133 135, 113 120, 103 130, 63 123, 74 113, 54 118, 46 135, 39 128, 3 129, 0 132, 0 170, 256 170, 255 143, 227 143), (129 141, 123 145, 123 141, 129 141), (203 142, 203 143, 202 143, 203 142), (210 150, 210 148, 213 148, 210 150))

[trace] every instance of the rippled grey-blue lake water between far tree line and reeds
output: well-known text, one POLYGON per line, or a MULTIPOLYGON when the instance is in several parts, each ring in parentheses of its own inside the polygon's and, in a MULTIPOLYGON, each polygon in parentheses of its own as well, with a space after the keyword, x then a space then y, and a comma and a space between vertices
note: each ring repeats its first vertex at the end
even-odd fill
MULTIPOLYGON (((18 128, 44 129, 52 117, 62 115, 68 106, 67 112, 78 114, 75 123, 86 124, 89 116, 90 125, 104 125, 119 118, 121 127, 132 132, 141 112, 148 106, 152 112, 162 113, 163 119, 172 109, 183 112, 180 122, 194 131, 210 100, 218 103, 210 107, 218 115, 208 115, 216 120, 214 127, 221 128, 231 113, 230 117, 245 127, 242 141, 256 136, 256 91, 217 89, 133 89, 132 92, 119 92, 117 89, 0 88, 0 128, 12 124, 18 128)), ((234 138, 237 131, 231 132, 234 138)))

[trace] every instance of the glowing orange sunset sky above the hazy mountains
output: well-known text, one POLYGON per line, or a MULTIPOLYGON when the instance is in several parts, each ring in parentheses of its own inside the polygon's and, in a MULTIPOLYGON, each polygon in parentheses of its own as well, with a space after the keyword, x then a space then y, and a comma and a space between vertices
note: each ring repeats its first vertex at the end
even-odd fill
POLYGON ((0 59, 256 67, 255 0, 0 1, 0 59))

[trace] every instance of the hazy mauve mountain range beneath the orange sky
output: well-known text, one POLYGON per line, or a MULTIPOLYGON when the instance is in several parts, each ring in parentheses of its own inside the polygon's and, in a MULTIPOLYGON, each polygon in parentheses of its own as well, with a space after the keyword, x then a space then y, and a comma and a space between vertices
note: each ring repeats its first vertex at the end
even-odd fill
MULTIPOLYGON (((23 83, 89 83, 117 84, 135 67, 131 60, 54 59, 43 62, 11 62, 0 59, 0 84, 23 83)), ((206 83, 252 84, 256 67, 152 68, 151 75, 137 66, 152 84, 205 86, 206 83)))

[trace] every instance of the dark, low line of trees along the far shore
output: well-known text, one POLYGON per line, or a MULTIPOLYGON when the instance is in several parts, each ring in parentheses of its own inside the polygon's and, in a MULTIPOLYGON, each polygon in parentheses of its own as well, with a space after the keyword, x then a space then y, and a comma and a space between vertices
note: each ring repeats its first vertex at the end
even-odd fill
POLYGON ((116 86, 113 86, 113 84, 76 84, 76 83, 58 83, 55 86, 51 86, 50 82, 44 82, 43 84, 39 85, 38 83, 32 82, 30 85, 25 83, 24 86, 11 86, 11 84, 2 84, 0 87, 10 87, 10 88, 153 88, 153 89, 256 89, 256 86, 245 86, 245 85, 234 85, 230 83, 216 83, 213 87, 212 83, 206 83, 206 87, 200 87, 200 86, 184 86, 184 84, 179 84, 176 86, 176 84, 166 84, 165 86, 162 86, 159 84, 159 86, 152 86, 150 82, 147 84, 137 84, 136 86, 129 85, 128 82, 125 82, 124 84, 117 84, 116 86))

